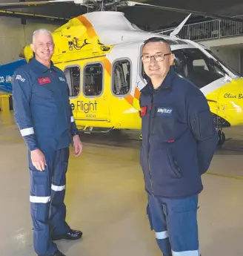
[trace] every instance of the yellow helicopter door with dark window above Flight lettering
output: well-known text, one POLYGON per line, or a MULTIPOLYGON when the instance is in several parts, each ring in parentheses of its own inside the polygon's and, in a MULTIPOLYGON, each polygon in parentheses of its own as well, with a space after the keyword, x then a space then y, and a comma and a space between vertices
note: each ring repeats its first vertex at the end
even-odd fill
POLYGON ((76 118, 110 122, 104 91, 104 67, 101 62, 89 62, 84 66, 82 85, 82 96, 76 102, 76 118))

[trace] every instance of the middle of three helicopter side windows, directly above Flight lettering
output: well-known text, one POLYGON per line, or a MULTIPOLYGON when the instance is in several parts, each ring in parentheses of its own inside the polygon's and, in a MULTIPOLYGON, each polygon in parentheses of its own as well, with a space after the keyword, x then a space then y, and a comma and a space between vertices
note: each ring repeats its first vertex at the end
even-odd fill
POLYGON ((103 67, 92 63, 84 68, 84 95, 99 96, 103 90, 103 67))

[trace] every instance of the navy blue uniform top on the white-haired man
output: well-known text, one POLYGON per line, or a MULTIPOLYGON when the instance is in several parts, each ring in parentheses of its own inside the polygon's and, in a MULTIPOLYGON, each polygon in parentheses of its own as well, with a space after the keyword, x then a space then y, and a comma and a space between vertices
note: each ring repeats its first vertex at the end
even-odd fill
POLYGON ((43 152, 70 145, 77 134, 64 73, 36 59, 13 75, 13 108, 27 148, 43 152))

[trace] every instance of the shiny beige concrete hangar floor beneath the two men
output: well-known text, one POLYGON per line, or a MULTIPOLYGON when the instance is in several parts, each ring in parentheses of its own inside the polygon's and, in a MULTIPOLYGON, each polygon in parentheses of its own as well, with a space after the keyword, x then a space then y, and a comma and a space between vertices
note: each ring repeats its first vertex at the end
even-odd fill
MULTIPOLYGON (((199 197, 202 256, 242 256, 243 128, 225 130, 199 197)), ((67 256, 159 256, 145 213, 139 134, 81 135, 84 152, 71 154, 67 221, 82 240, 58 242, 67 256), (115 139, 116 138, 116 139, 115 139)), ((0 115, 1 229, 3 256, 33 252, 27 150, 13 116, 0 115)), ((73 152, 73 151, 72 151, 73 152)))

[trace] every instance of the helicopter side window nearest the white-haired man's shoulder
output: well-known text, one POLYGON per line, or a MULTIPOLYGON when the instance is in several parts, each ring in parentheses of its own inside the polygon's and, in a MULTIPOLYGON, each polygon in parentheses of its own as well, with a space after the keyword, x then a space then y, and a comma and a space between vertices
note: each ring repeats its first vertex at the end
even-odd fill
POLYGON ((80 68, 79 67, 65 68, 64 74, 67 79, 69 96, 70 97, 78 96, 80 91, 80 68))

